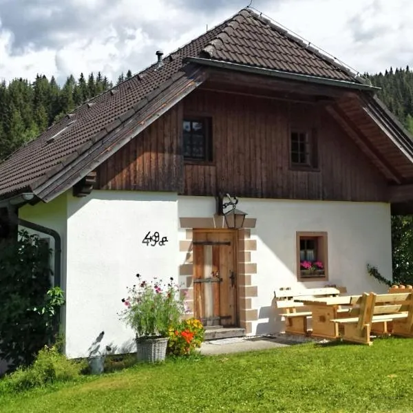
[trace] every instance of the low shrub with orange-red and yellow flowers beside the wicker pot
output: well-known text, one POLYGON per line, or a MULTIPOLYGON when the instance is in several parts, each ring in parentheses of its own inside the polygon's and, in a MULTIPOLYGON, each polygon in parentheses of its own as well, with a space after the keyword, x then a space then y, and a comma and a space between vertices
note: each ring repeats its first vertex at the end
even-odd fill
POLYGON ((204 341, 204 326, 198 319, 187 319, 168 330, 168 352, 175 356, 193 354, 204 341))

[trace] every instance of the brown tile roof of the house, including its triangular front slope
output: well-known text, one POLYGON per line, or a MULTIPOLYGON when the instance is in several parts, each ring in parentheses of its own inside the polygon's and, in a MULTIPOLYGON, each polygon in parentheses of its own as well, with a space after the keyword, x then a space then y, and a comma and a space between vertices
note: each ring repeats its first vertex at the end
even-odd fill
MULTIPOLYGON (((326 56, 311 50, 285 30, 244 9, 224 23, 202 34, 163 59, 162 67, 151 65, 109 92, 81 105, 38 138, 21 147, 0 164, 0 198, 21 191, 45 187, 59 173, 72 169, 85 153, 103 145, 107 136, 129 123, 130 118, 145 112, 145 105, 156 99, 167 87, 191 76, 183 59, 210 59, 265 67, 272 70, 308 74, 357 83, 354 75, 326 56)), ((159 104, 159 106, 161 103, 159 104)), ((89 162, 89 164, 87 164, 89 162)), ((103 159, 101 160, 103 162, 103 159)), ((87 168, 86 168, 87 169, 87 168)), ((80 172, 79 172, 80 173, 80 172)), ((74 184, 82 176, 73 176, 74 184)), ((61 186, 56 195, 67 189, 61 186)), ((70 186, 68 186, 70 187, 70 186)), ((42 198, 38 193, 39 198, 42 198)), ((49 198, 50 200, 51 198, 49 198)))

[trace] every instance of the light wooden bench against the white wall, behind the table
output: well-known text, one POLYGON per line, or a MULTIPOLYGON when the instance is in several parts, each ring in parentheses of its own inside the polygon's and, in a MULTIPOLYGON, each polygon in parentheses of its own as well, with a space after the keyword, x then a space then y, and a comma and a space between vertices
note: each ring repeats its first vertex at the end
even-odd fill
POLYGON ((285 319, 285 332, 288 334, 308 335, 308 319, 312 313, 307 306, 299 301, 321 297, 337 297, 345 289, 335 287, 290 289, 279 288, 274 291, 275 306, 281 310, 280 315, 285 319))

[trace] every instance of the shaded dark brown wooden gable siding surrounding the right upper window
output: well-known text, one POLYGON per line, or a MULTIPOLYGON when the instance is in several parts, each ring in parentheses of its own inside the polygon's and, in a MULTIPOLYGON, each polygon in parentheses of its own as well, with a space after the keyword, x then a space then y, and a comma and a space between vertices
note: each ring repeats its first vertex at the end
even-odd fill
POLYGON ((213 118, 213 165, 184 165, 186 195, 387 200, 383 175, 321 106, 198 89, 184 114, 213 118), (290 125, 317 130, 317 171, 290 169, 290 125))

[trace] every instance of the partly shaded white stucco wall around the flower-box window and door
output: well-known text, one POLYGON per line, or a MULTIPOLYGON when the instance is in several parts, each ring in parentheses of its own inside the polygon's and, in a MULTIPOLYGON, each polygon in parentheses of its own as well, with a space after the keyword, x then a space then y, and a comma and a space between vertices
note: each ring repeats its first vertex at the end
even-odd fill
MULTIPOLYGON (((368 275, 366 264, 377 266, 383 276, 391 279, 389 204, 244 198, 238 207, 248 213, 248 218, 257 219, 256 228, 251 230, 251 238, 257 240, 257 251, 251 257, 251 262, 257 263, 252 285, 258 288, 253 308, 259 314, 259 320, 253 322, 253 334, 281 328, 271 306, 275 288, 337 284, 346 286, 349 294, 385 292, 386 287, 368 275), (328 282, 297 282, 297 231, 328 233, 328 282)), ((215 212, 215 200, 182 196, 178 209, 180 217, 209 217, 215 212)), ((184 233, 180 237, 184 239, 184 233)))

